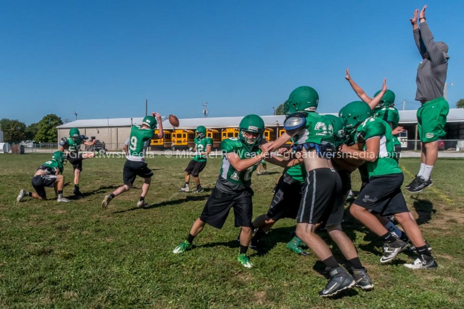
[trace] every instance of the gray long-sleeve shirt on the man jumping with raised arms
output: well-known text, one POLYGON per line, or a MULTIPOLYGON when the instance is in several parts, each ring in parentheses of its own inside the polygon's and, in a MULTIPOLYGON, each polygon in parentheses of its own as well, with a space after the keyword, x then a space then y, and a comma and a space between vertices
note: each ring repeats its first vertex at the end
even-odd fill
POLYGON ((413 31, 414 40, 423 58, 417 68, 416 100, 426 102, 443 97, 448 59, 433 40, 433 35, 426 22, 420 24, 421 29, 413 31), (428 57, 425 58, 425 52, 428 57))

